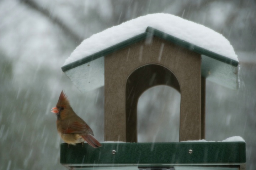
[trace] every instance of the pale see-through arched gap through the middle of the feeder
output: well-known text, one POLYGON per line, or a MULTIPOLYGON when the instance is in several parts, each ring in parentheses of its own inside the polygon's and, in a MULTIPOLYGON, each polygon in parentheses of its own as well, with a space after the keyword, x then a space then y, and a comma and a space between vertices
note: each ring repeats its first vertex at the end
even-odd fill
POLYGON ((180 92, 166 85, 154 86, 137 106, 138 142, 178 142, 180 92))

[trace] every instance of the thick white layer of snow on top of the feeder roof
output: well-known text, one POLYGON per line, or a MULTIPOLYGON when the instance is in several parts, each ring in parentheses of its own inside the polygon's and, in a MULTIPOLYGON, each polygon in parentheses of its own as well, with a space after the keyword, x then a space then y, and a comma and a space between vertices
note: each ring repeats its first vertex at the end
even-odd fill
POLYGON ((147 27, 153 27, 166 34, 238 61, 233 47, 222 34, 181 17, 166 13, 155 13, 132 19, 92 35, 76 47, 70 57, 66 59, 64 65, 142 34, 147 27))

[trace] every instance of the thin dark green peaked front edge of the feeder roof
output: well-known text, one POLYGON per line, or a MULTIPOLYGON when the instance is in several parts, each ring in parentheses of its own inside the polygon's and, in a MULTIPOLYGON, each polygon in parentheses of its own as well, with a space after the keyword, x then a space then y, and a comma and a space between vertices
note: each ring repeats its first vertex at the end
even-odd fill
POLYGON ((129 46, 129 45, 132 45, 132 44, 135 44, 136 42, 139 42, 141 40, 144 40, 146 39, 147 37, 150 37, 150 36, 157 36, 161 39, 165 39, 167 41, 170 41, 174 44, 177 44, 177 45, 180 45, 186 49, 189 49, 191 51, 194 51, 194 52, 197 52, 197 53, 200 53, 202 55, 206 55, 208 57, 211 57, 211 58, 214 58, 215 60, 219 60, 219 61, 222 61, 224 63, 227 63, 227 64, 230 64, 232 66, 235 66, 237 67, 239 62, 238 61, 235 61, 235 60, 232 60, 231 58, 228 58, 228 57, 225 57, 225 56, 222 56, 222 55, 219 55, 217 53, 214 53, 212 51, 209 51, 209 50, 206 50, 206 49, 203 49, 202 47, 199 47, 199 46, 196 46, 196 45, 193 45, 191 44, 190 42, 187 42, 187 41, 184 41, 184 40, 181 40, 181 39, 178 39, 172 35, 169 35, 169 34, 166 34, 158 29, 154 29, 152 27, 148 27, 146 28, 146 31, 145 33, 142 33, 142 34, 139 34, 139 35, 136 35, 130 39, 127 39, 125 41, 122 41, 116 45, 113 45, 111 47, 108 47, 107 49, 104 49, 102 51, 99 51, 99 52, 96 52, 90 56, 86 56, 80 60, 77 60, 73 63, 70 63, 70 64, 67 64, 65 66, 62 67, 62 71, 63 72, 66 72, 67 70, 70 70, 72 68, 75 68, 75 67, 78 67, 78 66, 81 66, 82 64, 85 64, 87 62, 90 62, 90 61, 93 61, 99 57, 102 57, 102 56, 105 56, 105 55, 108 55, 110 53, 113 53, 114 51, 117 51, 117 50, 120 50, 126 46, 129 46))

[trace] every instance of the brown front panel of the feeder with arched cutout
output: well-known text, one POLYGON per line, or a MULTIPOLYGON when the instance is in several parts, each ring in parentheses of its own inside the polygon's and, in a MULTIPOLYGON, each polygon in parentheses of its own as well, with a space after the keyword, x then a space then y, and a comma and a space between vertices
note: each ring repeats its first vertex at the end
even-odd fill
POLYGON ((178 79, 179 140, 201 139, 201 56, 154 37, 105 56, 105 140, 127 141, 126 82, 134 70, 146 64, 161 65, 178 79))

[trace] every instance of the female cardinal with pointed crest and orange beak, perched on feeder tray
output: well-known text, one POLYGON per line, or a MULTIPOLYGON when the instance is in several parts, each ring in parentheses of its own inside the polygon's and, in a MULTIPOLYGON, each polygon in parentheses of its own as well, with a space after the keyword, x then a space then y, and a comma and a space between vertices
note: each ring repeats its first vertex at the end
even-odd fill
POLYGON ((91 128, 73 111, 63 90, 52 112, 57 115, 57 130, 64 142, 75 145, 86 141, 94 148, 101 147, 91 128))

